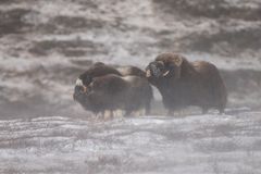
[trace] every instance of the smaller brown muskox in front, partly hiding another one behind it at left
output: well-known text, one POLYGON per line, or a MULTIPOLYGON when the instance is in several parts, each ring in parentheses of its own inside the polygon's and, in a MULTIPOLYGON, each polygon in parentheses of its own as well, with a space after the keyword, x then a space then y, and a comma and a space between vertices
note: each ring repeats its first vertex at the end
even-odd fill
POLYGON ((74 91, 74 99, 86 110, 104 113, 105 110, 121 109, 126 111, 126 116, 142 108, 149 113, 152 96, 146 78, 114 74, 95 77, 88 86, 77 84, 74 91))

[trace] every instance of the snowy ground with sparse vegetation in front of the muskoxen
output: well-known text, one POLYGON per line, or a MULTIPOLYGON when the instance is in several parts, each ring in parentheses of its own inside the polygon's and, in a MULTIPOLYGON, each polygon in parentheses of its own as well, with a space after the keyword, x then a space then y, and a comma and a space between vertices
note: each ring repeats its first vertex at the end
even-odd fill
POLYGON ((261 113, 0 121, 0 173, 261 173, 261 113))

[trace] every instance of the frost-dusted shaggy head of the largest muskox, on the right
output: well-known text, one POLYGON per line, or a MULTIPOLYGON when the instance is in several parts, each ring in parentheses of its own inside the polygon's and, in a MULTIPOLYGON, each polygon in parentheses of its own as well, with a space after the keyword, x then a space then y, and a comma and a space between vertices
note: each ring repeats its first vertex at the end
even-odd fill
POLYGON ((182 74, 184 58, 174 53, 162 53, 146 67, 146 77, 149 80, 174 77, 178 79, 182 74))

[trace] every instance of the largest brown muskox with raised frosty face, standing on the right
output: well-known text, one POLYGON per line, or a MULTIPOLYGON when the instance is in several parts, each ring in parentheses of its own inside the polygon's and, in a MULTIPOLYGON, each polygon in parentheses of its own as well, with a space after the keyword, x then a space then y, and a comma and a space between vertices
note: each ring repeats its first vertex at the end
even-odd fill
POLYGON ((210 108, 224 112, 226 88, 215 65, 209 62, 188 62, 179 54, 162 53, 146 67, 146 76, 161 92, 169 114, 188 105, 200 107, 202 113, 210 108))

